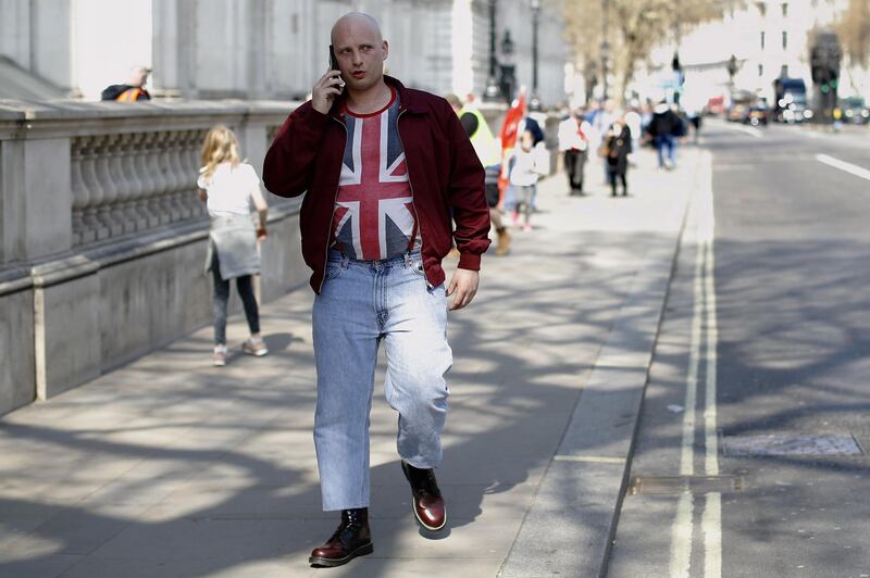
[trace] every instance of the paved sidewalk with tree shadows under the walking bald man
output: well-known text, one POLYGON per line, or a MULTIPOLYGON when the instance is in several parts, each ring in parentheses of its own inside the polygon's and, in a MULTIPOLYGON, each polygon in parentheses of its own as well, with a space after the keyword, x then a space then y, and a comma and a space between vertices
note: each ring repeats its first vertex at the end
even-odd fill
MULTIPOLYGON (((571 463, 582 464, 584 451, 613 451, 600 432, 579 453, 567 441, 589 411, 607 415, 607 407, 584 406, 593 398, 581 392, 605 390, 606 372, 626 366, 614 347, 638 342, 635 322, 657 327, 660 311, 643 297, 648 278, 670 274, 697 156, 692 148, 681 154, 678 171, 660 172, 643 151, 626 199, 609 197, 597 160, 586 167, 586 197, 567 197, 564 175, 556 175, 540 186, 535 230, 515 231, 509 256, 484 257, 475 302, 450 315, 443 538, 417 530, 395 450, 396 416, 378 385, 371 426, 375 552, 337 569, 309 567, 310 550, 330 536, 336 516, 320 511, 312 294, 303 288, 263 307, 264 359, 236 354, 213 368, 211 329, 203 328, 0 418, 0 576, 588 575, 585 564, 597 568, 601 560, 559 570, 566 552, 548 549, 536 528, 569 504, 554 518, 562 525, 552 528, 555 539, 564 524, 569 539, 585 531, 599 545, 612 531, 614 507, 599 504, 598 522, 587 523, 571 505, 576 485, 562 486, 566 470, 552 458, 574 455, 571 463), (561 499, 554 493, 560 488, 561 499)), ((245 338, 241 318, 231 319, 228 337, 245 338)), ((636 415, 618 417, 627 424, 636 415)), ((624 454, 631 443, 623 442, 624 454)))

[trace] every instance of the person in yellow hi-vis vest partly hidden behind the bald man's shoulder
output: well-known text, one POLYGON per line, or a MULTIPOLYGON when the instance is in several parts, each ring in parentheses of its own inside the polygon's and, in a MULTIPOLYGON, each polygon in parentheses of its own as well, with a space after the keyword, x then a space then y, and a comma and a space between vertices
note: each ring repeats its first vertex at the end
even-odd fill
POLYGON ((498 175, 501 169, 498 140, 493 136, 493 131, 489 130, 489 125, 486 124, 486 118, 484 118, 481 111, 470 103, 463 105, 459 97, 453 93, 446 95, 445 98, 459 115, 459 122, 462 123, 462 128, 465 129, 469 140, 471 140, 471 146, 474 147, 474 152, 477 153, 477 158, 486 171, 486 203, 489 205, 489 221, 493 223, 498 236, 496 254, 504 255, 510 248, 510 234, 501 218, 501 211, 498 209, 498 175))

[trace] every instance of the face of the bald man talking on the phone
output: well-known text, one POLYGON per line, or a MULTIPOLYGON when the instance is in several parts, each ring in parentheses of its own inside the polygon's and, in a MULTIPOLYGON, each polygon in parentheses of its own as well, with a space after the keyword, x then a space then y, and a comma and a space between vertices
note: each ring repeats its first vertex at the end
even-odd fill
POLYGON ((349 88, 365 90, 384 76, 389 47, 364 20, 341 23, 333 34, 333 50, 349 88))

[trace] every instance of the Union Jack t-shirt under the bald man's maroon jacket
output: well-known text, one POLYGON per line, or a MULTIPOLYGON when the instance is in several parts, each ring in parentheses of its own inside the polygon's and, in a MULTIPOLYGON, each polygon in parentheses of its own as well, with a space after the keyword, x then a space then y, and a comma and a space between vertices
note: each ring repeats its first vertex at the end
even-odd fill
POLYGON ((395 90, 389 104, 378 112, 362 115, 347 108, 344 111, 347 142, 333 213, 333 239, 350 259, 390 259, 418 241, 398 116, 395 90))

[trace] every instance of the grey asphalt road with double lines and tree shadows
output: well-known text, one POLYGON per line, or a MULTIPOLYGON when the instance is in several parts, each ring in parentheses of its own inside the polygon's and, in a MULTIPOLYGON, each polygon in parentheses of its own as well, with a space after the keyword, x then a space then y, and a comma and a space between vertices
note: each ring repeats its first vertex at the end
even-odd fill
POLYGON ((700 147, 608 575, 870 576, 870 129, 700 147))

